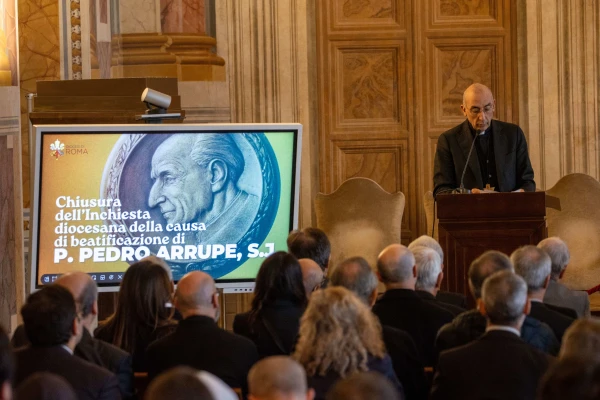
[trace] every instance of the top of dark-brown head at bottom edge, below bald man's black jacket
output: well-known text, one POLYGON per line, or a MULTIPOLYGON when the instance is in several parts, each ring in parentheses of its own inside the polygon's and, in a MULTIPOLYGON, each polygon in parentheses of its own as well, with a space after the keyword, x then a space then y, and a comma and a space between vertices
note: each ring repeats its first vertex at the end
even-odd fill
POLYGON ((145 400, 217 400, 190 367, 175 367, 156 377, 146 389, 145 400))

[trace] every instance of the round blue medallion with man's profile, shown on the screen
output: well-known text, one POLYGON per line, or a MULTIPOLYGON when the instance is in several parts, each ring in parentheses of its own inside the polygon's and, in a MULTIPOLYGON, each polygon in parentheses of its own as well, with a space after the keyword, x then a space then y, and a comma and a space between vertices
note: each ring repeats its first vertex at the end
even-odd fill
POLYGON ((104 223, 119 243, 165 259, 175 280, 194 270, 219 278, 269 233, 279 175, 264 134, 123 134, 101 185, 120 214, 104 207, 104 223))

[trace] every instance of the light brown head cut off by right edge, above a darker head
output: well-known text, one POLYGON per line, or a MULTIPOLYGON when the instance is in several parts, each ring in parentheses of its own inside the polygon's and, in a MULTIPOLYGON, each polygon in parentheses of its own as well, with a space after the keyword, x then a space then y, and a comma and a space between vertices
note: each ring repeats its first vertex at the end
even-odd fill
POLYGON ((600 361, 600 320, 581 318, 563 335, 560 357, 596 358, 600 361))

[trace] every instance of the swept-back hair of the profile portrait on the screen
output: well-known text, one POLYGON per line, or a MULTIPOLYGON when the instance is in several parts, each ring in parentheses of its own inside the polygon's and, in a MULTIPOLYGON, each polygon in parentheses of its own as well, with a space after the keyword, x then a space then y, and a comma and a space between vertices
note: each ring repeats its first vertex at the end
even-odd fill
POLYGON ((244 172, 244 155, 231 135, 197 134, 190 157, 202 167, 206 167, 213 160, 223 161, 228 167, 228 178, 234 183, 244 172))

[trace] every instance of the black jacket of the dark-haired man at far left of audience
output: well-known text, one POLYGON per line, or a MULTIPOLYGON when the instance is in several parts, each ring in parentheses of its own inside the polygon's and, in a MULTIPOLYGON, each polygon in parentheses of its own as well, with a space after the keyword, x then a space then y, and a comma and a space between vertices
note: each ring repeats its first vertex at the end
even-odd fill
POLYGON ((71 355, 62 346, 23 347, 15 351, 15 386, 36 372, 51 372, 71 384, 79 400, 121 398, 117 377, 108 370, 71 355))

